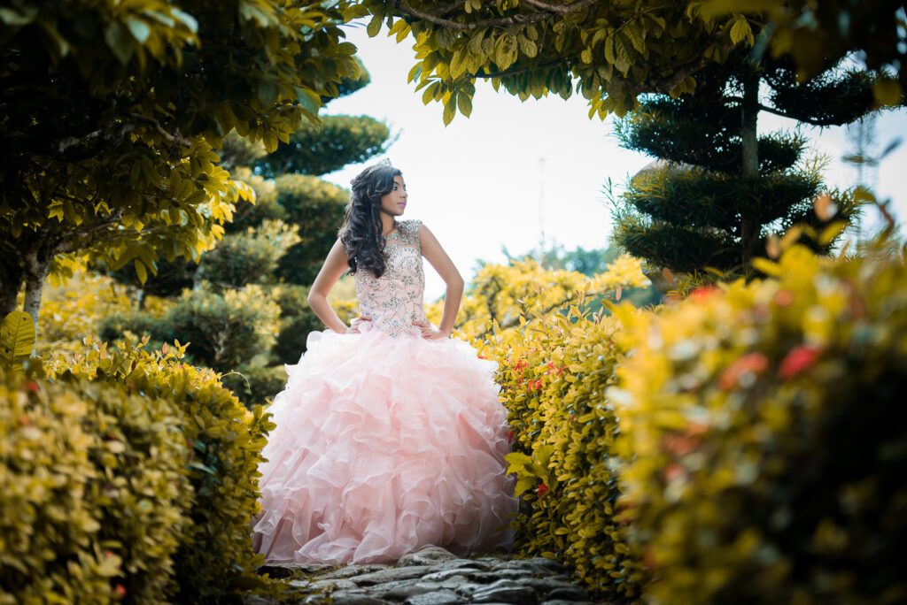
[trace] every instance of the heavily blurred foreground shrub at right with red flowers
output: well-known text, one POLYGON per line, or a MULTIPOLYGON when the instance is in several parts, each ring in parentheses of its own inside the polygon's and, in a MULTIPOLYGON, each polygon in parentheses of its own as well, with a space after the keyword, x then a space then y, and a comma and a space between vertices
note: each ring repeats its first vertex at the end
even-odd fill
POLYGON ((618 453, 656 603, 907 600, 907 268, 789 248, 774 279, 618 311, 618 453))

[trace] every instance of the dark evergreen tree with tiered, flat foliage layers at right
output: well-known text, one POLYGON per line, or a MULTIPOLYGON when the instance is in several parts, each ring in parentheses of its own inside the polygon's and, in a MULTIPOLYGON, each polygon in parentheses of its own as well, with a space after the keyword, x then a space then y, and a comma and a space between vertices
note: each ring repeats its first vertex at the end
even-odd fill
MULTIPOLYGON (((695 95, 650 96, 618 122, 623 147, 659 161, 634 177, 615 205, 615 242, 673 272, 746 273, 771 232, 850 221, 853 192, 824 192, 823 162, 804 158, 805 138, 757 137, 756 121, 766 110, 818 126, 849 123, 875 107, 872 87, 865 72, 837 69, 798 84, 788 59, 754 65, 738 52, 700 72, 695 95), (770 90, 768 104, 761 84, 770 90), (834 205, 817 213, 814 200, 824 193, 834 205)), ((834 244, 804 241, 817 251, 834 244)))

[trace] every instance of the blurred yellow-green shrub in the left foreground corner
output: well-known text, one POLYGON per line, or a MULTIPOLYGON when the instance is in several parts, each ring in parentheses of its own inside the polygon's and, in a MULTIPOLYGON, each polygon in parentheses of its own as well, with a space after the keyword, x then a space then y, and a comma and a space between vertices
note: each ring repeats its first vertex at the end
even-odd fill
POLYGON ((191 486, 178 410, 0 369, 0 603, 165 602, 191 486))

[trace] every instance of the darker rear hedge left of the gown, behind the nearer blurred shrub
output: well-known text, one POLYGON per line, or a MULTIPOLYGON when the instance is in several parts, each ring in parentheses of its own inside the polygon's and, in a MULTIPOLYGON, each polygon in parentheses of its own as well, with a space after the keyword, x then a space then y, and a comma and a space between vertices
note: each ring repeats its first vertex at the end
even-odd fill
POLYGON ((112 382, 146 399, 165 399, 179 410, 179 426, 191 448, 193 488, 189 524, 174 554, 182 602, 219 600, 250 589, 276 593, 255 568, 249 521, 258 514, 258 464, 268 430, 261 406, 247 410, 219 383, 219 374, 179 362, 185 345, 149 353, 127 340, 122 350, 86 338, 86 353, 71 363, 48 362, 58 379, 70 375, 112 382))

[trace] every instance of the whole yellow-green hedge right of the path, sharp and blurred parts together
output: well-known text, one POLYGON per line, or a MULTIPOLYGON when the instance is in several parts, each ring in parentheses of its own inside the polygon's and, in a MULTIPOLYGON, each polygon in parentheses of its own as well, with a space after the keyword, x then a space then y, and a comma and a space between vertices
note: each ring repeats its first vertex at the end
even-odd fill
POLYGON ((907 597, 907 254, 796 238, 764 279, 486 339, 522 554, 652 603, 907 597))

